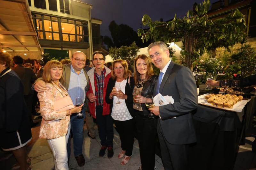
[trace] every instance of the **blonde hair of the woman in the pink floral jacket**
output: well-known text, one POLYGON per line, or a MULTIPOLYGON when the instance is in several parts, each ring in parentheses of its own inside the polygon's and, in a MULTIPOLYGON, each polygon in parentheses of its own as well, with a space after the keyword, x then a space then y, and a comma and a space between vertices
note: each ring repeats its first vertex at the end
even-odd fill
MULTIPOLYGON (((44 66, 43 80, 46 83, 52 83, 51 68, 62 68, 62 64, 57 60, 48 61, 44 66)), ((64 82, 63 76, 61 75, 60 82, 64 82)))

